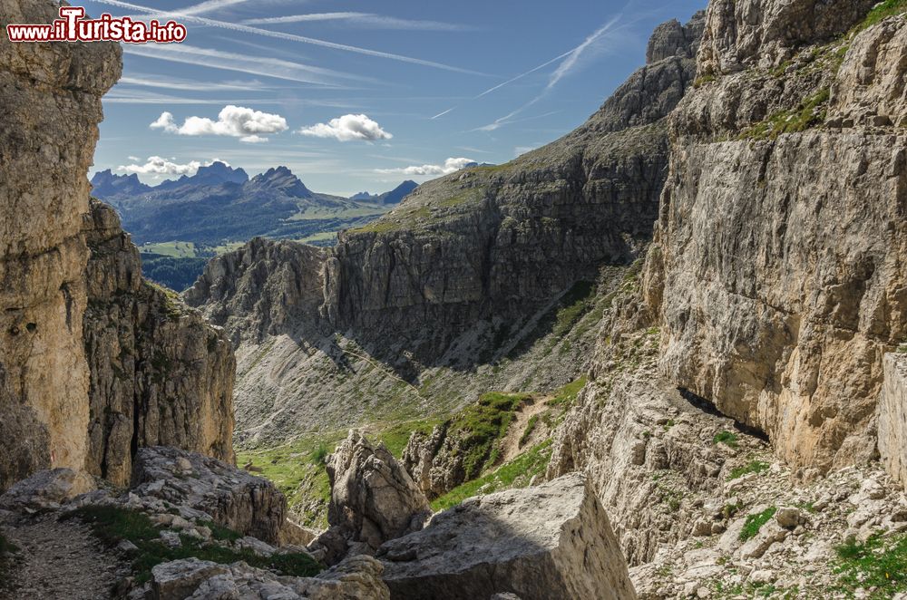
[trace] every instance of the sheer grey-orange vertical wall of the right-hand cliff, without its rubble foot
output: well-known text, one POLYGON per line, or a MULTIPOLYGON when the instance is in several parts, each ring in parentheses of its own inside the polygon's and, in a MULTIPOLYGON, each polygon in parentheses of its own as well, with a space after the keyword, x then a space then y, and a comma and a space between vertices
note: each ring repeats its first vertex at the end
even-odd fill
MULTIPOLYGON (((834 44, 790 44, 824 43, 866 3, 738 2, 736 14, 747 5, 767 19, 761 34, 709 6, 707 41, 764 39, 739 51, 748 71, 691 93, 672 119, 644 295, 668 379, 766 431, 808 475, 872 457, 883 354, 907 334, 907 138, 892 126, 902 105, 884 100, 902 89, 903 48, 878 53, 907 22, 857 34, 839 70, 834 44), (780 76, 758 66, 775 55, 793 56, 780 76), (753 133, 809 98, 827 108, 804 131, 753 133)), ((704 43, 700 72, 716 52, 704 43)))

